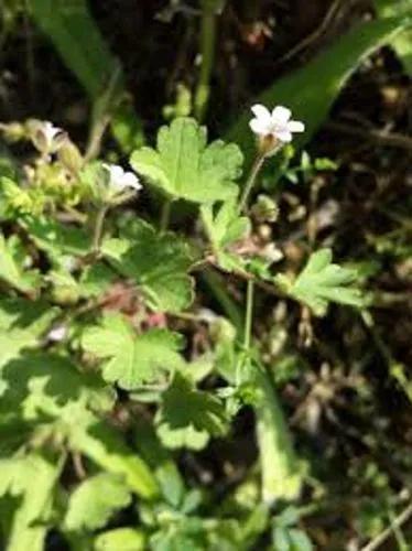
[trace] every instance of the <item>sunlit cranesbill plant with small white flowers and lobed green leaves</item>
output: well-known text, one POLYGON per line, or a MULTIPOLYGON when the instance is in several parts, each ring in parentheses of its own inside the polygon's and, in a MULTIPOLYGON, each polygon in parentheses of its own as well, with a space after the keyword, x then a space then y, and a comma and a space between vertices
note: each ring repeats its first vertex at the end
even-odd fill
MULTIPOLYGON (((299 497, 305 466, 256 338, 256 293, 314 315, 362 300, 356 272, 334 264, 330 250, 313 252, 293 277, 273 268, 275 242, 253 238, 257 220, 280 216, 271 197, 254 198, 262 168, 304 125, 281 106, 252 112, 247 177, 238 145, 209 142, 192 118, 134 151, 134 172, 87 162, 50 122, 2 127, 39 152, 22 170, 1 169, 0 180, 8 549, 42 550, 51 530, 74 549, 256 549, 269 507, 299 497), (185 204, 189 222, 172 229, 185 204), (245 304, 221 276, 246 288, 245 304), (185 479, 177 460, 229 437, 246 407, 259 455, 210 514, 217 497, 185 479), (248 484, 259 490, 249 501, 248 484), (127 526, 107 526, 119 511, 127 526)), ((310 545, 294 522, 274 533, 310 545)))

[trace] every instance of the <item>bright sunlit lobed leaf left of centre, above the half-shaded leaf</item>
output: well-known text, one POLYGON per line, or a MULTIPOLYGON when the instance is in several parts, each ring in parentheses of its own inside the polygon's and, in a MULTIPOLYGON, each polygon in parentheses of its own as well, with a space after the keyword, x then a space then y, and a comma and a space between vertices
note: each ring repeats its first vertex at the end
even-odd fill
POLYGON ((121 315, 104 317, 100 327, 86 329, 82 345, 100 359, 104 378, 127 390, 153 382, 183 364, 178 354, 181 336, 166 329, 150 329, 137 335, 121 315))

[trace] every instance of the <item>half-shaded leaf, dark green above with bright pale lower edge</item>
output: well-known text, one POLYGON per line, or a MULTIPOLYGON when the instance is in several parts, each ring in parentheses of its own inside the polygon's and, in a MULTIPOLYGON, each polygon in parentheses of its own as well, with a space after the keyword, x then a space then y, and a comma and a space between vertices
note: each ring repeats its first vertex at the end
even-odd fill
POLYGON ((187 379, 176 374, 162 395, 156 418, 158 434, 166 447, 202 450, 210 435, 225 434, 227 421, 225 408, 216 397, 196 390, 187 379))

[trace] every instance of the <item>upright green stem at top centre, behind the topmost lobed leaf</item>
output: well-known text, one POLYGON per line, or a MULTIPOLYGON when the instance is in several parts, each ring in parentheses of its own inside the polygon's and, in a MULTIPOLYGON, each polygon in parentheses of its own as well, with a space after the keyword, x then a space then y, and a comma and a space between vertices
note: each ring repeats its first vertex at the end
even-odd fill
POLYGON ((202 121, 210 94, 210 76, 215 58, 216 14, 213 2, 203 0, 202 30, 200 30, 200 74, 195 91, 195 117, 202 121))

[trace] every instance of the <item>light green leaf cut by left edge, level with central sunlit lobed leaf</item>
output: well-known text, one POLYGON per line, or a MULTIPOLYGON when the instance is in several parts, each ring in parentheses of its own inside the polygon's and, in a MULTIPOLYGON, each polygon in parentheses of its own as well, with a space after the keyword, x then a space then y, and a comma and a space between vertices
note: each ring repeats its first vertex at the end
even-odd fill
POLYGON ((21 350, 35 348, 58 309, 25 299, 0 300, 0 369, 21 350))

